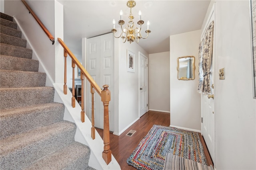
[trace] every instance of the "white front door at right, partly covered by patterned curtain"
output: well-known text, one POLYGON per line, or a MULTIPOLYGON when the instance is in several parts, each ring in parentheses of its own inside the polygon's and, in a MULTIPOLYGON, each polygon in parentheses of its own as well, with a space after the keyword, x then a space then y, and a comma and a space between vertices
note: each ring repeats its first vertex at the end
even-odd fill
MULTIPOLYGON (((206 27, 208 24, 214 20, 214 7, 210 13, 208 18, 208 22, 206 23, 206 27)), ((204 27, 204 28, 206 28, 204 27)), ((210 152, 212 161, 215 160, 215 113, 214 113, 214 80, 215 80, 215 31, 213 37, 213 47, 212 47, 212 66, 211 66, 211 96, 201 95, 201 133, 204 137, 204 141, 207 145, 207 148, 210 152)))

